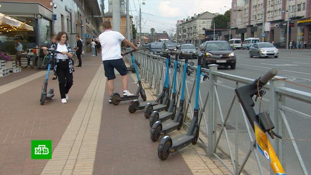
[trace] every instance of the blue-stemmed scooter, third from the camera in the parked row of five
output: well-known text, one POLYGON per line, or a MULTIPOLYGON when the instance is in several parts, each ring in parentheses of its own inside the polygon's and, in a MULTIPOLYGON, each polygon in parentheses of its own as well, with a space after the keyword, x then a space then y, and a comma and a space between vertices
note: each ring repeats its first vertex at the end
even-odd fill
MULTIPOLYGON (((162 107, 157 107, 158 105, 156 105, 154 107, 153 112, 150 115, 149 118, 149 125, 150 127, 153 126, 153 124, 156 121, 161 121, 164 122, 168 119, 174 119, 175 114, 176 114, 176 105, 177 105, 177 101, 176 101, 176 79, 177 79, 177 66, 178 66, 178 56, 184 55, 183 53, 179 53, 179 52, 170 52, 169 54, 175 54, 175 61, 174 61, 174 75, 173 75, 173 94, 172 94, 172 99, 171 99, 171 103, 169 106, 168 111, 164 111, 165 107, 164 105, 162 105, 162 107), (158 108, 157 110, 155 110, 155 108, 158 108)), ((185 64, 188 64, 188 57, 187 57, 187 61, 185 62, 185 64)))

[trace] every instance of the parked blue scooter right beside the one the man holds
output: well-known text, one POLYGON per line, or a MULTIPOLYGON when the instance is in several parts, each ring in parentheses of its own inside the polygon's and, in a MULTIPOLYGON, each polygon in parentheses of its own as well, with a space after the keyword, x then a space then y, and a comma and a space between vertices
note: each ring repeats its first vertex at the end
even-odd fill
MULTIPOLYGON (((167 56, 169 56, 169 55, 167 55, 167 56)), ((169 60, 169 58, 167 58, 166 61, 167 60, 169 60)), ((128 106, 128 111, 130 113, 134 113, 137 110, 142 110, 142 109, 145 110, 146 105, 154 106, 154 105, 158 105, 160 103, 163 103, 164 99, 167 99, 170 97, 170 86, 168 83, 169 82, 168 78, 169 78, 169 70, 167 69, 165 72, 163 89, 162 89, 162 92, 160 93, 160 95, 155 100, 147 101, 147 102, 139 102, 138 100, 133 100, 130 102, 130 105, 128 106)), ((150 117, 150 115, 149 116, 145 115, 146 119, 149 119, 149 117, 150 117)))

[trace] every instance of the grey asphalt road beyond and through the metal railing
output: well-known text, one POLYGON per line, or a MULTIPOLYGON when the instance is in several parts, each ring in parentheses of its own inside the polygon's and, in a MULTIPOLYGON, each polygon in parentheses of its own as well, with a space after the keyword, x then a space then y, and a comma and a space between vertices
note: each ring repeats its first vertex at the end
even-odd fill
MULTIPOLYGON (((263 75, 266 71, 271 68, 276 68, 278 70, 278 76, 288 77, 288 80, 293 83, 297 83, 300 85, 311 87, 311 51, 285 51, 281 50, 280 55, 278 58, 269 57, 269 58, 257 58, 253 57, 250 58, 247 50, 236 50, 235 51, 237 56, 237 65, 235 70, 230 70, 229 68, 221 68, 219 67, 218 71, 230 73, 234 75, 239 75, 242 77, 257 79, 259 76, 263 75)), ((193 59, 196 65, 197 60, 193 59)), ((181 76, 181 75, 179 75, 181 76)), ((179 80, 180 81, 180 80, 179 80)), ((194 82, 194 75, 191 75, 187 78, 188 88, 191 90, 193 82, 194 82)), ((218 79, 218 82, 234 88, 235 83, 225 79, 218 79)), ((286 83, 286 87, 293 88, 296 90, 301 90, 305 92, 311 93, 310 88, 305 88, 302 86, 294 85, 292 83, 286 83)), ((207 96, 207 91, 209 90, 209 81, 203 82, 200 85, 200 92, 202 95, 203 100, 207 96)), ((229 109, 229 105, 232 101, 234 96, 234 91, 230 91, 228 89, 219 87, 218 94, 220 99, 220 104, 222 107, 222 112, 224 117, 229 109)), ((194 96, 194 95, 192 95, 194 96)), ((269 93, 267 93, 266 98, 268 98, 269 93)), ((194 102, 194 98, 191 99, 194 102)), ((265 109, 269 109, 269 104, 264 104, 265 109)), ((297 111, 306 113, 311 115, 310 111, 310 104, 302 103, 293 99, 286 99, 286 106, 293 108, 297 111)), ((256 106, 258 111, 258 106, 256 106)), ((239 112, 238 115, 238 125, 236 124, 236 115, 235 109, 234 112, 231 112, 228 123, 232 124, 233 127, 239 128, 239 148, 241 150, 247 151, 249 148, 249 139, 248 134, 246 132, 246 126, 244 120, 242 118, 242 113, 239 112)), ((307 120, 301 118, 297 115, 293 115, 290 113, 285 113, 288 123, 291 127, 291 130, 294 134, 294 138, 296 139, 306 139, 311 140, 311 132, 310 132, 310 125, 311 120, 307 120)), ((219 116, 219 115, 218 115, 219 116)), ((218 117, 218 123, 220 123, 220 117, 218 117)), ((202 123, 201 123, 202 124, 202 123)), ((234 138, 234 130, 230 131, 229 129, 228 135, 229 140, 233 144, 235 141, 234 138)), ((283 134, 283 137, 288 138, 287 132, 283 134)), ((284 140, 286 143, 284 146, 284 154, 286 159, 286 170, 288 174, 302 174, 300 171, 300 166, 298 164, 298 159, 295 156, 294 149, 292 146, 291 141, 284 140)), ((311 142, 310 141, 296 141, 300 154, 307 166, 308 172, 311 172, 311 142)), ((233 147, 234 148, 234 147, 233 147)), ((264 160, 262 155, 259 155, 261 159, 261 163, 263 166, 269 169, 269 165, 267 161, 264 160), (268 166, 268 167, 267 167, 268 166)), ((251 157, 254 158, 254 157, 251 157)), ((242 160, 240 159, 240 163, 242 160)))

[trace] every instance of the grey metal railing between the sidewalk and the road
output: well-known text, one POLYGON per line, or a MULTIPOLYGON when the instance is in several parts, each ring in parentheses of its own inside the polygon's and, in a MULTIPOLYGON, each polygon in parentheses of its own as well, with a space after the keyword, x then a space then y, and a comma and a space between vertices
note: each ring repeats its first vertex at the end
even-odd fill
MULTIPOLYGON (((155 92, 158 95, 164 83, 164 74, 166 71, 164 63, 165 58, 141 51, 134 53, 134 56, 141 65, 138 73, 140 74, 142 81, 148 83, 149 88, 155 89, 155 92)), ((128 56, 126 59, 130 63, 130 57, 128 56)), ((178 64, 183 63, 180 62, 178 64)), ((189 66, 189 69, 194 70, 194 72, 197 71, 196 66, 189 66)), ((209 89, 207 91, 200 90, 199 93, 199 106, 201 107, 200 110, 202 111, 204 121, 204 123, 201 123, 202 127, 200 128, 201 133, 207 135, 207 141, 199 139, 204 145, 206 145, 207 155, 209 157, 217 157, 232 175, 240 175, 242 172, 260 175, 269 174, 269 172, 270 174, 273 174, 272 170, 270 171, 269 164, 264 160, 264 157, 259 156, 258 152, 255 151, 256 140, 254 131, 249 127, 250 125, 247 117, 234 92, 235 88, 244 84, 249 84, 254 80, 220 72, 217 70, 217 65, 209 65, 209 69, 203 69, 203 72, 209 75, 209 82, 207 83, 209 89), (220 80, 227 82, 230 86, 224 85, 220 80), (225 100, 222 101, 220 94, 225 93, 229 93, 231 96, 226 95, 225 100), (235 125, 228 123, 229 119, 235 122, 235 125), (243 125, 244 128, 240 127, 241 125, 243 125), (232 132, 232 130, 234 130, 234 132, 232 132), (246 137, 248 138, 247 140, 245 140, 246 137), (254 157, 251 157, 252 154, 254 157), (242 161, 239 161, 240 159, 242 161), (250 165, 246 167, 247 162, 251 165, 255 164, 257 167, 250 165)), ((172 75, 173 73, 170 72, 171 84, 173 78, 172 75)), ((196 73, 193 73, 193 76, 195 75, 196 73)), ((194 98, 192 97, 194 81, 191 82, 191 79, 194 79, 193 77, 190 77, 190 80, 188 79, 189 77, 186 81, 185 103, 187 108, 185 113, 191 118, 193 115, 194 102, 194 98)), ((288 122, 288 118, 289 116, 293 117, 292 115, 294 115, 294 117, 299 117, 295 120, 303 119, 307 122, 311 122, 311 115, 307 114, 308 112, 293 109, 290 107, 290 104, 286 104, 285 101, 290 100, 299 102, 308 108, 308 105, 311 104, 311 93, 293 88, 286 88, 285 82, 282 81, 282 79, 286 78, 278 77, 278 79, 270 80, 270 83, 264 87, 269 95, 265 95, 267 99, 262 99, 262 101, 265 105, 268 105, 266 109, 269 109, 270 118, 275 125, 274 130, 280 135, 288 135, 290 140, 274 139, 271 140, 271 143, 275 148, 276 155, 279 157, 285 171, 291 171, 292 168, 287 169, 286 167, 287 165, 293 167, 291 164, 295 163, 294 167, 296 173, 294 174, 309 175, 311 165, 310 161, 306 160, 306 157, 311 157, 311 154, 308 152, 304 153, 307 154, 307 156, 302 156, 298 148, 299 146, 297 145, 296 140, 294 140, 294 134, 288 122), (287 151, 285 150, 285 147, 288 147, 287 143, 289 142, 293 147, 291 152, 294 153, 295 158, 298 160, 291 162, 291 164, 289 164, 287 159, 292 161, 291 159, 294 157, 286 156, 287 151), (299 171, 296 170, 298 167, 299 171)), ((178 81, 179 79, 177 78, 177 85, 180 85, 178 81)), ((179 88, 180 86, 177 87, 177 91, 179 91, 179 88)), ((311 149, 310 142, 308 145, 309 149, 311 149)))

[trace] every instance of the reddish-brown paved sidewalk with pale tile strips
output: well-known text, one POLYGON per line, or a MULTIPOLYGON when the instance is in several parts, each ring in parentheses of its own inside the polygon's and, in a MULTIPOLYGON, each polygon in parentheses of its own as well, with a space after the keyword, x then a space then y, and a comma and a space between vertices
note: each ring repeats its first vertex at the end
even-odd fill
MULTIPOLYGON (((159 160, 158 141, 150 140, 143 113, 130 114, 128 102, 108 104, 100 55, 82 60, 82 68, 73 74, 67 104, 60 103, 58 81, 51 79, 55 97, 39 104, 45 71, 22 70, 0 79, 0 175, 229 174, 216 158, 206 156, 200 142, 159 160), (31 140, 52 140, 52 159, 31 159, 31 140)), ((129 90, 135 92, 132 77, 129 90)), ((120 75, 115 87, 121 92, 120 75)), ((155 97, 150 89, 146 93, 147 100, 155 97)))

